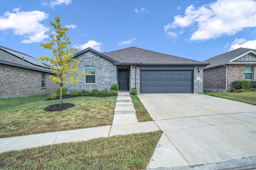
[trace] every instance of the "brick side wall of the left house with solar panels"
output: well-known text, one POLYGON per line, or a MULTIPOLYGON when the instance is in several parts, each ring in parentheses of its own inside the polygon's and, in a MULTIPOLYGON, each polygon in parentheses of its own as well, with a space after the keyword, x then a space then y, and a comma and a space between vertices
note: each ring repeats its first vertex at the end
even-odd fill
POLYGON ((41 73, 36 70, 0 64, 0 98, 52 94, 58 84, 45 73, 46 88, 41 87, 41 73))

